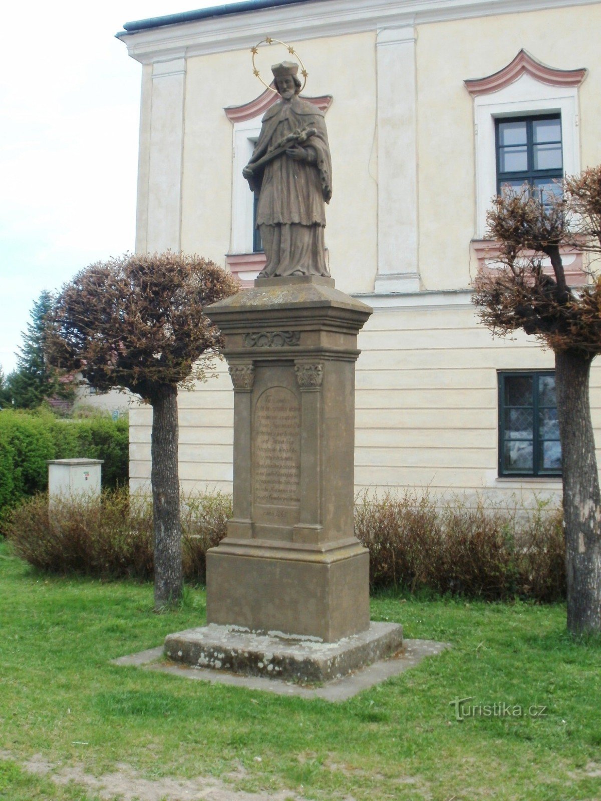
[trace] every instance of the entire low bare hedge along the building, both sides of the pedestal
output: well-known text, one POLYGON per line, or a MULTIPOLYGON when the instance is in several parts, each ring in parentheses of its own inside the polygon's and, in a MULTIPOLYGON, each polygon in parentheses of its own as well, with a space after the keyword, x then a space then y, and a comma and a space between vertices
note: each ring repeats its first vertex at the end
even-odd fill
MULTIPOLYGON (((232 497, 203 493, 182 506, 184 576, 206 581, 207 550, 232 516, 232 497)), ((105 578, 152 578, 152 501, 126 489, 99 498, 30 498, 8 514, 14 552, 40 570, 105 578)), ((355 533, 369 549, 370 584, 411 592, 500 600, 565 598, 561 510, 499 505, 482 498, 442 504, 429 493, 357 497, 355 533)))

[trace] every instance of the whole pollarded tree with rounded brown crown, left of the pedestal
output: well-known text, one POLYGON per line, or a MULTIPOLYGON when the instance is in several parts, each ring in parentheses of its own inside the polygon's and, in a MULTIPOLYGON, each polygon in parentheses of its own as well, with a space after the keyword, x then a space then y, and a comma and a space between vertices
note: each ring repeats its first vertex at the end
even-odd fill
POLYGON ((199 256, 126 254, 79 272, 48 316, 52 364, 81 372, 101 392, 127 388, 152 406, 157 609, 183 586, 177 390, 205 380, 217 355, 220 332, 204 306, 236 290, 232 276, 199 256))

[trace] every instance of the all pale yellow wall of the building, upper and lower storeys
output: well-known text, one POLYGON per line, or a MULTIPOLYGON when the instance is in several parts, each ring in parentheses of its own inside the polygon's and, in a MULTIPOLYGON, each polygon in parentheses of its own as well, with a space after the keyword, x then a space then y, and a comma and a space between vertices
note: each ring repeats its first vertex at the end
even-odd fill
MULTIPOLYGON (((470 260, 470 240, 476 233, 474 101, 464 80, 501 70, 521 48, 552 67, 587 67, 579 89, 578 130, 581 163, 594 165, 601 162, 599 33, 601 4, 417 27, 418 254, 424 288, 466 288, 476 269, 470 260)), ((316 38, 297 46, 309 70, 305 94, 333 95, 326 114, 333 156, 326 228, 330 268, 341 290, 373 292, 378 257, 376 31, 316 38)), ((260 67, 268 74, 268 65, 285 53, 274 48, 264 55, 260 67)), ((148 70, 140 150, 142 221, 145 126, 151 114, 148 70)), ((232 123, 224 107, 248 103, 262 91, 248 50, 188 58, 181 247, 219 264, 225 263, 231 247, 232 227, 232 123)), ((369 297, 363 300, 369 303, 369 297)), ((357 488, 559 493, 558 480, 497 477, 497 371, 552 368, 551 353, 522 335, 513 341, 493 340, 465 304, 439 297, 430 306, 401 305, 379 309, 360 336, 357 488)), ((232 401, 224 365, 217 380, 179 394, 185 491, 231 488, 232 401)), ((601 365, 596 362, 591 405, 601 445, 601 365)), ((150 425, 150 409, 132 410, 133 488, 150 476, 150 425)))

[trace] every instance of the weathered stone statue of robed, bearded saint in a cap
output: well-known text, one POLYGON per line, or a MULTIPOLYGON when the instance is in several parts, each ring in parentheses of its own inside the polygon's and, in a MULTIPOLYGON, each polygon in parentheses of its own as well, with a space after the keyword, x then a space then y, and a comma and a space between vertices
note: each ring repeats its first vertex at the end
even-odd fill
POLYGON ((272 66, 281 99, 265 113, 259 141, 242 174, 258 193, 256 226, 267 264, 260 278, 329 276, 325 203, 332 160, 324 113, 301 99, 298 64, 272 66))

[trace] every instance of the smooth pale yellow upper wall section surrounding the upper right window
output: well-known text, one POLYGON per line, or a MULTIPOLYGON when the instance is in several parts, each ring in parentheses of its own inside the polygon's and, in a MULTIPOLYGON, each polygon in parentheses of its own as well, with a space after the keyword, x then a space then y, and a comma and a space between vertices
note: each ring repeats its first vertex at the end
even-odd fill
POLYGON ((469 260, 475 235, 474 118, 464 80, 501 70, 522 48, 561 70, 587 67, 580 89, 582 163, 599 163, 599 34, 601 6, 419 26, 419 261, 426 288, 466 287, 474 278, 469 260))

